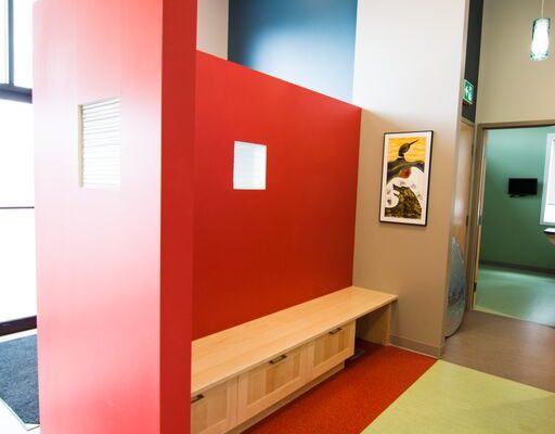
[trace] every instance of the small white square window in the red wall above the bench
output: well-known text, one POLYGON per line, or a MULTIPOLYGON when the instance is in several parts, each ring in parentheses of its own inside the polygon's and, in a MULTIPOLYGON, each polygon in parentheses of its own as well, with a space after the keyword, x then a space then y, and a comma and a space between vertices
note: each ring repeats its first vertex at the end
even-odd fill
POLYGON ((235 142, 234 190, 266 190, 266 145, 235 142))

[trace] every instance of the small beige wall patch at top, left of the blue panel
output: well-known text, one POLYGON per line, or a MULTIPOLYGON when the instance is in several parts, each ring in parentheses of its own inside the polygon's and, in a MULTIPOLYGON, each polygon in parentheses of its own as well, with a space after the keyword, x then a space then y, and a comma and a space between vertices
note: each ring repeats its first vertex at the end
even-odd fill
POLYGON ((198 0, 198 50, 228 59, 229 0, 198 0))

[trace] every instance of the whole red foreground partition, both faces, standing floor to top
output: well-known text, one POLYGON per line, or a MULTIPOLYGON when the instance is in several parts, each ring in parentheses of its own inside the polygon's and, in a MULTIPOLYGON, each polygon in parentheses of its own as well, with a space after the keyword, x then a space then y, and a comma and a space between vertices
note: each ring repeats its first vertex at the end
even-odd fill
POLYGON ((191 260, 193 197, 176 165, 192 171, 195 8, 194 0, 36 4, 43 434, 189 430, 192 278, 183 261, 191 260), (80 189, 77 106, 116 95, 121 189, 80 189), (172 116, 177 107, 189 119, 172 116), (179 267, 169 260, 177 254, 179 267))

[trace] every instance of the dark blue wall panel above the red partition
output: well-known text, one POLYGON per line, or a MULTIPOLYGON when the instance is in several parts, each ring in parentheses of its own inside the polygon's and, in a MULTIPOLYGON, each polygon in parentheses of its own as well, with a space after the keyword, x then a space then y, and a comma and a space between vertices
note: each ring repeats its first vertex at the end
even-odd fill
POLYGON ((230 0, 229 60, 350 102, 357 0, 230 0))

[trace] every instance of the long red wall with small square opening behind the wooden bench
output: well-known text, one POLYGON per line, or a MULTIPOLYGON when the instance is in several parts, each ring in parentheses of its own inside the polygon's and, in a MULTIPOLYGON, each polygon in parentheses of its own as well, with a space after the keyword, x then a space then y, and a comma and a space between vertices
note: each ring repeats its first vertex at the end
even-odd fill
POLYGON ((193 336, 349 286, 358 107, 197 54, 193 336), (268 146, 233 190, 235 140, 268 146))

